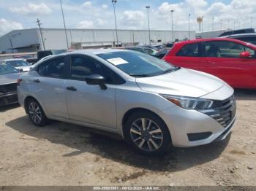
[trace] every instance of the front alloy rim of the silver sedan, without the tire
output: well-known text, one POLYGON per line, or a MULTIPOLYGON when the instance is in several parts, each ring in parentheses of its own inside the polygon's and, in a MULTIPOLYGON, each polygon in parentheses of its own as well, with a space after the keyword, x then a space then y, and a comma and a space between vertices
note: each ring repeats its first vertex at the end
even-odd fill
POLYGON ((152 152, 162 145, 163 133, 154 120, 140 118, 132 122, 129 130, 134 144, 147 152, 152 152))

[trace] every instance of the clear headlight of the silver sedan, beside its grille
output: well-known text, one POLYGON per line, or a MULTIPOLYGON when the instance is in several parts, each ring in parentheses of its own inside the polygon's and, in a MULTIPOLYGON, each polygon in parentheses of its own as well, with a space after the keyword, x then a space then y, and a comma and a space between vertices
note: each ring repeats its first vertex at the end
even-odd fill
POLYGON ((181 106, 184 109, 195 109, 195 110, 203 110, 210 109, 213 101, 203 98, 190 98, 183 97, 177 95, 165 95, 160 94, 162 97, 166 98, 168 101, 173 102, 177 106, 181 106))

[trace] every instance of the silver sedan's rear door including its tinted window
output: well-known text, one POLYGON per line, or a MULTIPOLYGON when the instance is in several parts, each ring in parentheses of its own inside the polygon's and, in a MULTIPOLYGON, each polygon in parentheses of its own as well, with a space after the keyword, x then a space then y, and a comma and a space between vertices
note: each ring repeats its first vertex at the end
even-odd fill
POLYGON ((45 109, 53 117, 68 118, 65 96, 65 64, 64 56, 41 63, 36 75, 31 75, 31 91, 45 109))

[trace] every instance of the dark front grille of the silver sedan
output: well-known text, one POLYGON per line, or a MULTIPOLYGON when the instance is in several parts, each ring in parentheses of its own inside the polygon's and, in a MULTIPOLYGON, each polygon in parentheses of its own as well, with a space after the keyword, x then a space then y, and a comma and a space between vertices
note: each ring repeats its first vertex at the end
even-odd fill
POLYGON ((234 95, 224 101, 214 101, 212 109, 203 113, 217 120, 224 128, 227 128, 236 116, 236 101, 234 95))

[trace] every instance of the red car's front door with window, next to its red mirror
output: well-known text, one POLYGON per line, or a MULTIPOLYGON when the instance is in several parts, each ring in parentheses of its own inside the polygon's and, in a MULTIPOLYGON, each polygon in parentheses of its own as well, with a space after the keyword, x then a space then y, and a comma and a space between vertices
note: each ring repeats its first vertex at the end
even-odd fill
MULTIPOLYGON (((246 51, 243 44, 231 41, 206 41, 203 44, 201 67, 233 87, 252 87, 255 74, 255 55, 252 58, 240 58, 246 51)), ((252 52, 254 52, 252 50, 252 52)))

